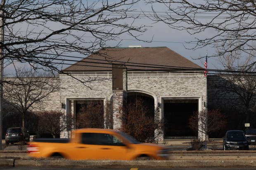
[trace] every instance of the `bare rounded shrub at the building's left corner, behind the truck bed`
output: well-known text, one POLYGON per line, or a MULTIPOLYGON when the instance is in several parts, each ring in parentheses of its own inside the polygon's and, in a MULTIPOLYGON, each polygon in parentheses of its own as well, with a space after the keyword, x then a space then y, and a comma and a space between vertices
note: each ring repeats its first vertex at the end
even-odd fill
POLYGON ((38 112, 39 116, 39 130, 41 132, 51 133, 53 138, 59 136, 59 134, 66 130, 67 119, 69 119, 65 113, 55 110, 38 112))

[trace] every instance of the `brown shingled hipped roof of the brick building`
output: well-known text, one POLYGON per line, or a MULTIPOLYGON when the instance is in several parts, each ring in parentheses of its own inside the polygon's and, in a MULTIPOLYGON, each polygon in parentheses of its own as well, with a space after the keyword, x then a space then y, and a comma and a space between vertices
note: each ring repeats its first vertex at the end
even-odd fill
POLYGON ((202 69, 167 47, 127 47, 97 51, 62 71, 111 71, 112 64, 124 64, 128 70, 202 69))

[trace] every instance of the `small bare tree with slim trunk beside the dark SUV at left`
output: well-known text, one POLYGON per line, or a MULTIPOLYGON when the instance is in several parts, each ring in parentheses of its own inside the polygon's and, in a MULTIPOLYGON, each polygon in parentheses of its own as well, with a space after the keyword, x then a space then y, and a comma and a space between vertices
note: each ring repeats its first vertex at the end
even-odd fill
POLYGON ((7 105, 17 109, 25 126, 28 110, 40 109, 51 93, 57 91, 59 81, 46 72, 31 69, 17 69, 15 77, 9 79, 4 86, 4 98, 7 105))

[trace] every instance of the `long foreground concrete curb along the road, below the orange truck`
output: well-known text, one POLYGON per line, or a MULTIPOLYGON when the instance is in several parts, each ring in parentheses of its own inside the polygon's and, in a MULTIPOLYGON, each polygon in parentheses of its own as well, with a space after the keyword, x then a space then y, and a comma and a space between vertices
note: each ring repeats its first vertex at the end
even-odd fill
MULTIPOLYGON (((0 165, 1 166, 1 165, 0 165)), ((255 159, 248 160, 177 160, 177 161, 71 161, 71 160, 15 160, 14 167, 42 168, 203 168, 256 167, 255 159)))

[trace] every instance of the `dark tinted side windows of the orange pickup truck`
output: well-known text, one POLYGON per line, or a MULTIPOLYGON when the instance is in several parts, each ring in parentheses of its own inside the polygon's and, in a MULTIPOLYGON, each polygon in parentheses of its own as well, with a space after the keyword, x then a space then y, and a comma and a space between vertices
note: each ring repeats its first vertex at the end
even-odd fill
POLYGON ((122 141, 113 135, 106 133, 83 133, 83 144, 96 144, 96 145, 110 145, 110 146, 123 146, 122 141))

